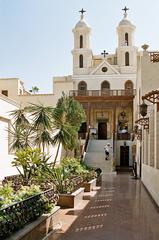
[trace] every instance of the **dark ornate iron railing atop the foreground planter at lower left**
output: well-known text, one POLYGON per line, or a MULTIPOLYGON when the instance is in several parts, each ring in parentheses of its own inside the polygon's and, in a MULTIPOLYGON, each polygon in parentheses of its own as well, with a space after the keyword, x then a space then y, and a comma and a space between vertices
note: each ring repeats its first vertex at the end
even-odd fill
POLYGON ((36 220, 45 212, 46 204, 56 204, 58 195, 53 189, 36 194, 0 210, 0 239, 5 239, 25 224, 36 220))

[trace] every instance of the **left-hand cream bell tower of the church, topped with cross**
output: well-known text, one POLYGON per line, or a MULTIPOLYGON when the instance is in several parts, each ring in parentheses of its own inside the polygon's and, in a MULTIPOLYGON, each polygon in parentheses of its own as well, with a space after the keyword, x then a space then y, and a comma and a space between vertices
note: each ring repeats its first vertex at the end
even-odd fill
POLYGON ((81 13, 80 21, 73 29, 74 34, 74 49, 73 55, 73 74, 88 74, 89 68, 92 65, 92 50, 90 49, 90 34, 91 28, 84 21, 85 10, 81 13))

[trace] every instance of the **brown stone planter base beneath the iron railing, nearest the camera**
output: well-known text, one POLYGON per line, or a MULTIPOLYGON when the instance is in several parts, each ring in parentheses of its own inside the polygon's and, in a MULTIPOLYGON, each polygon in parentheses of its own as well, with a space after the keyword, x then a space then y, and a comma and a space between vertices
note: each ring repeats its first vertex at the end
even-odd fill
POLYGON ((53 231, 59 223, 60 207, 56 206, 49 214, 44 214, 36 221, 27 224, 22 230, 13 234, 7 240, 42 240, 53 231))

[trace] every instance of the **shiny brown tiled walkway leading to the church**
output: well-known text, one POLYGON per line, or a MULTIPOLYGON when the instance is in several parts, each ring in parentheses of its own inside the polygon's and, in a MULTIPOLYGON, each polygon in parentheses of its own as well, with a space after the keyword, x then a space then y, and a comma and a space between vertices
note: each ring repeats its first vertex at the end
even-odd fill
POLYGON ((102 187, 63 234, 49 240, 159 240, 159 211, 139 180, 105 176, 102 187))

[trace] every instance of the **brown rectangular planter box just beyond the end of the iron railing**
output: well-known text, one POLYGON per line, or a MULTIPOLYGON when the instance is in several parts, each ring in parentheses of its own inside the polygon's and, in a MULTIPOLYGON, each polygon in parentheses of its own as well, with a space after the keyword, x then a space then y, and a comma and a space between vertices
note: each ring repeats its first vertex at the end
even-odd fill
POLYGON ((79 188, 70 194, 59 194, 57 205, 65 208, 74 208, 83 200, 84 188, 79 188))

